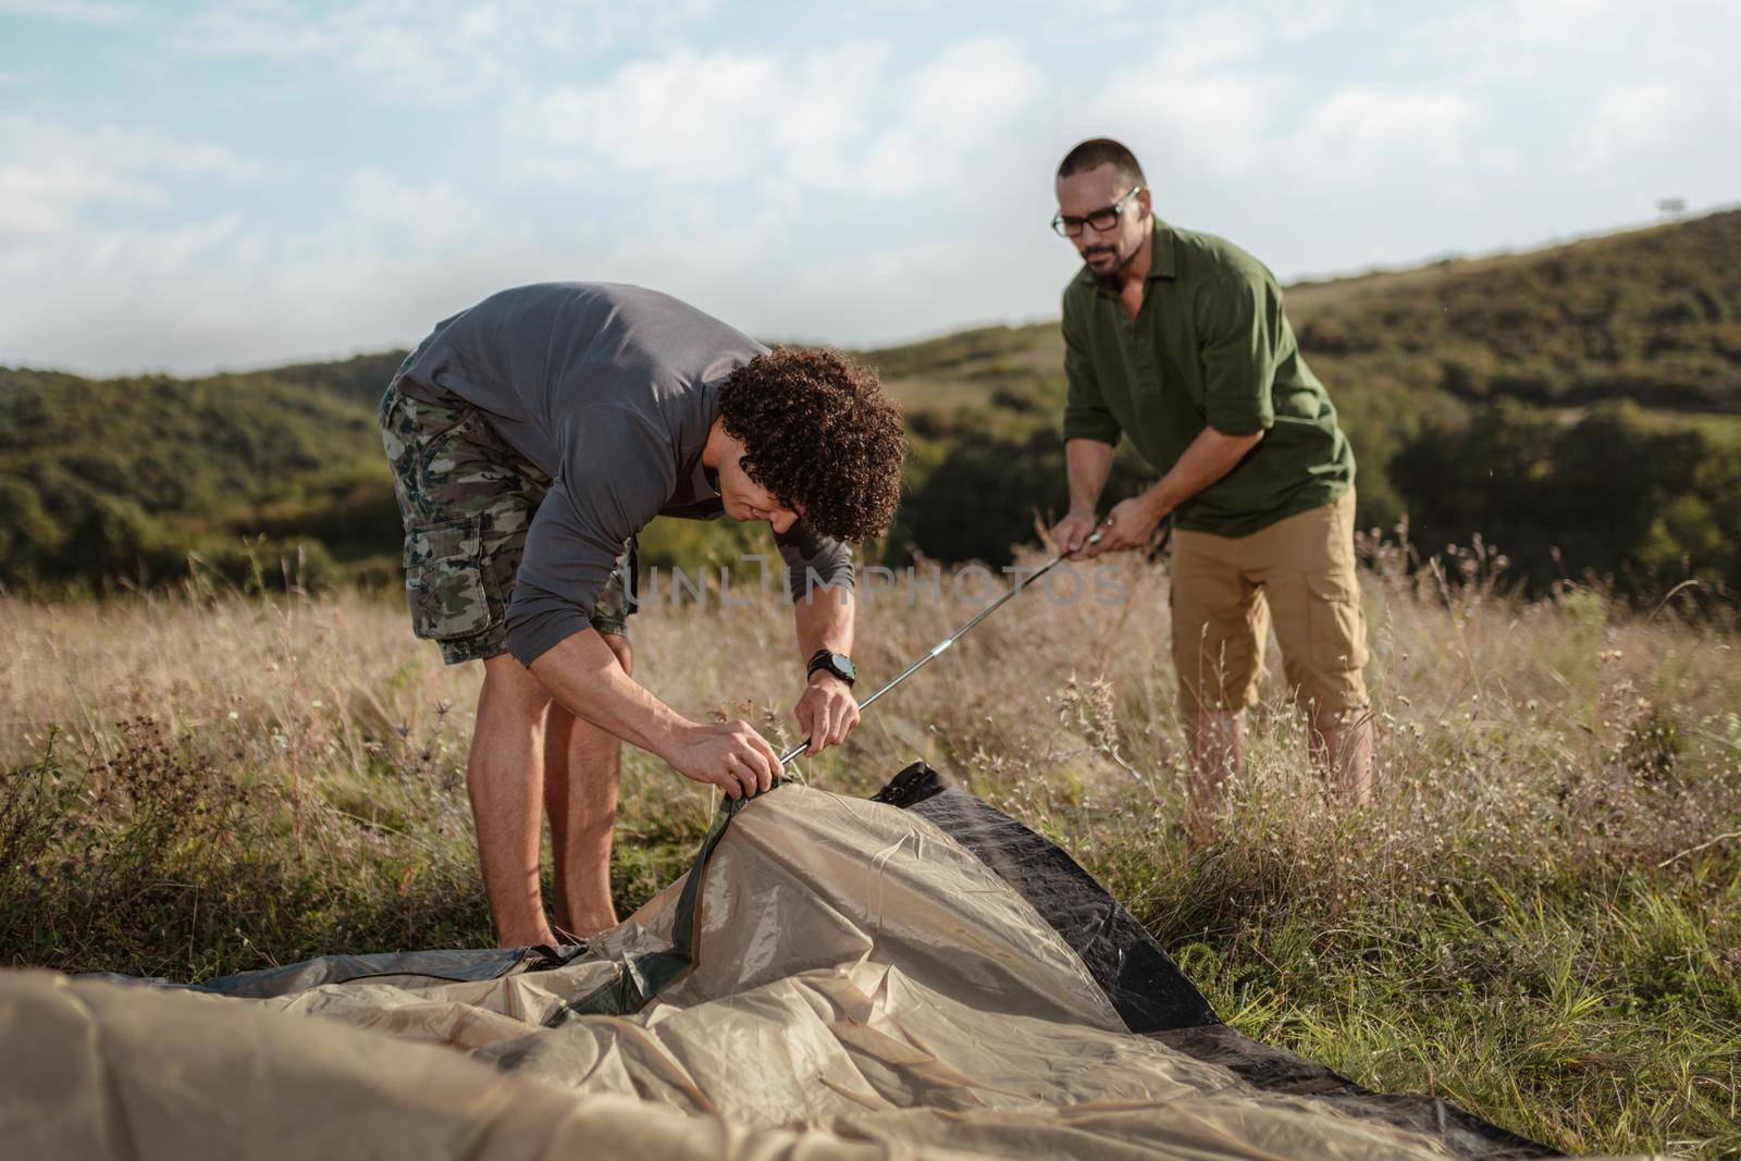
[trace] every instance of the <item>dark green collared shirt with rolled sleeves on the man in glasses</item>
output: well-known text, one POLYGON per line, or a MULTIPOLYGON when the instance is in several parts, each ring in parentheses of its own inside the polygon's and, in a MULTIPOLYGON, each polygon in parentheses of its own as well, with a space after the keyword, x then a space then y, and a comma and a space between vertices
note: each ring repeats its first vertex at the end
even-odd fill
POLYGON ((1177 527, 1245 536, 1337 500, 1354 453, 1306 366, 1267 268, 1222 238, 1154 221, 1142 310, 1086 266, 1064 287, 1064 439, 1118 444, 1156 472, 1213 426, 1264 439, 1173 512, 1177 527))

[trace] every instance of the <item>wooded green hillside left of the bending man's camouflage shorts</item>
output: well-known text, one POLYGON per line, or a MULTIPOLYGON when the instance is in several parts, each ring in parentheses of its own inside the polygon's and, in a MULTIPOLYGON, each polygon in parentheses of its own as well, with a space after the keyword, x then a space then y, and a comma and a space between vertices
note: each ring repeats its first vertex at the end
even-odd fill
MULTIPOLYGON (((0 583, 162 580, 197 552, 232 578, 350 538, 315 517, 359 491, 392 508, 371 413, 273 374, 84 379, 0 371, 0 583), (280 531, 256 543, 244 536, 280 531), (320 536, 320 533, 327 533, 320 536)), ((371 547, 371 550, 374 550, 371 547)))

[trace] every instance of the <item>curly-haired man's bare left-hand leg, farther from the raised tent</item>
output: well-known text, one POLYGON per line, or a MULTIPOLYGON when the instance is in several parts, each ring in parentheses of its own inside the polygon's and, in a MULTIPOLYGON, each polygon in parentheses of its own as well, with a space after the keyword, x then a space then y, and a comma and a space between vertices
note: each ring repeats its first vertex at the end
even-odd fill
POLYGON ((484 661, 465 789, 498 947, 554 943, 538 889, 545 708, 550 695, 514 654, 484 661))

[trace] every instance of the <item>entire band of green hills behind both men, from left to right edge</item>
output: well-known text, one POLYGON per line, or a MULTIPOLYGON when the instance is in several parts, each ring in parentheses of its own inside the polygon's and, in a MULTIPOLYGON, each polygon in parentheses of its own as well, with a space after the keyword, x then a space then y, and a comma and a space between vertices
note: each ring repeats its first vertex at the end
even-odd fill
MULTIPOLYGON (((1288 289, 1360 460, 1360 520, 1483 533, 1534 585, 1741 588, 1741 212, 1288 289)), ((1057 324, 865 352, 912 432, 879 548, 1008 559, 1064 503, 1057 324), (996 496, 994 507, 984 498, 996 496)), ((399 524, 374 402, 402 352, 202 379, 0 369, 0 583, 388 578, 399 524)), ((1121 456, 1114 489, 1149 470, 1121 456)), ((740 529, 660 522, 648 560, 740 529), (669 526, 669 527, 667 527, 669 526)))

